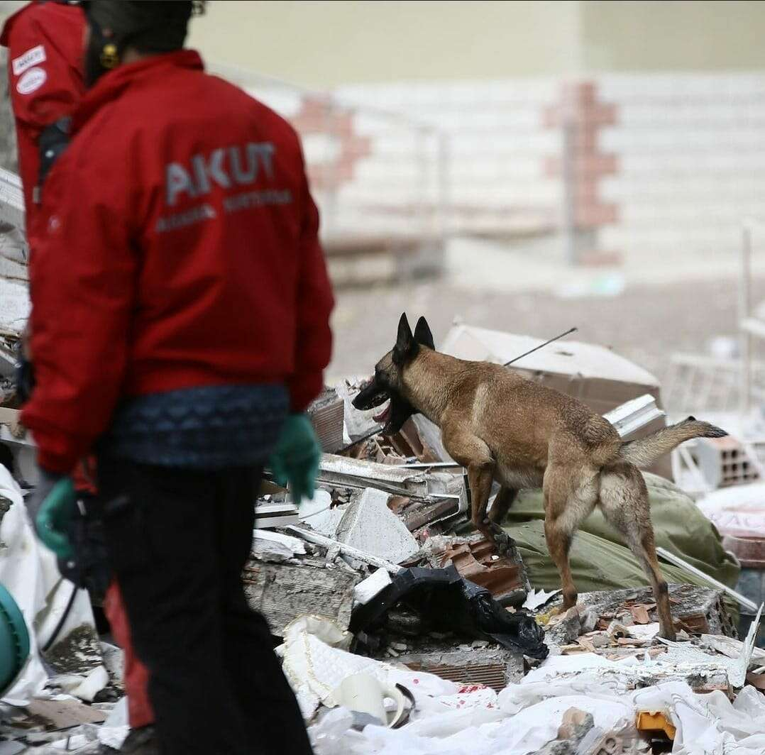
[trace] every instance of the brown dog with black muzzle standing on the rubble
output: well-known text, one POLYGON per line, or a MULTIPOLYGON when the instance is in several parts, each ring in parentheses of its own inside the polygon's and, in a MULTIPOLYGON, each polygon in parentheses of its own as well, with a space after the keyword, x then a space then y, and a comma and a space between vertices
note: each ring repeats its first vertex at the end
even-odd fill
POLYGON ((568 564, 571 538, 600 506, 648 575, 662 636, 674 639, 646 483, 638 467, 683 441, 721 438, 725 431, 689 417, 648 438, 623 443, 609 421, 571 396, 501 365, 438 353, 425 318, 420 317, 412 334, 405 314, 396 345, 377 363, 373 382, 353 403, 370 408, 386 399, 389 408, 378 415, 386 421, 384 432, 395 431, 414 412, 441 428, 444 447, 467 469, 473 523, 498 549, 509 545, 499 523, 518 490, 542 487, 545 539, 561 574, 565 608, 577 602, 568 564), (487 516, 493 480, 502 487, 487 516))

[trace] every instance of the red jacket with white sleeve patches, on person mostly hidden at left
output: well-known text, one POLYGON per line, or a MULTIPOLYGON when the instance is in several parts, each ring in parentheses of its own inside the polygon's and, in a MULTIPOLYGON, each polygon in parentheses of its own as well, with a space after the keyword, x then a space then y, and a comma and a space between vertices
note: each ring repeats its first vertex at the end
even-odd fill
POLYGON ((31 244, 32 191, 40 171, 37 140, 45 126, 71 112, 83 96, 84 31, 85 16, 77 5, 32 2, 8 18, 0 32, 0 44, 8 47, 8 91, 31 244))

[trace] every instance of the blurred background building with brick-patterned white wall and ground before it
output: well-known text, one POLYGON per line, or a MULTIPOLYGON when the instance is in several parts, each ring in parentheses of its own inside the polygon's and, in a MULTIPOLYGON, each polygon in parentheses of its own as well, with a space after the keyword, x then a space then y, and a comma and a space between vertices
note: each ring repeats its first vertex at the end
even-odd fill
POLYGON ((718 336, 734 353, 742 227, 765 220, 763 38, 765 2, 740 0, 211 0, 190 46, 301 132, 334 375, 411 308, 441 333, 578 324, 661 378, 718 336))

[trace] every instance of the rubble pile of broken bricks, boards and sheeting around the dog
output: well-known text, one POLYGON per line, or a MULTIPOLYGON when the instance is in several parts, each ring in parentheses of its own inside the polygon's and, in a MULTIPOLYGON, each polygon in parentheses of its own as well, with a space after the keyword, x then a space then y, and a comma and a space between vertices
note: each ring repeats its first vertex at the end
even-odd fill
MULTIPOLYGON (((483 350, 490 360, 525 343, 465 327, 450 339, 454 350, 470 358, 483 350)), ((588 349, 561 350, 529 369, 542 382, 575 385, 623 437, 640 437, 665 421, 658 386, 611 357, 601 376, 593 365, 605 357, 588 349)), ((659 636, 649 587, 583 592, 566 610, 549 555, 532 550, 542 538, 536 494, 516 500, 510 547, 496 553, 469 524, 465 470, 438 428, 413 415, 383 437, 373 412, 352 407, 362 388, 345 380, 310 409, 325 451, 312 500, 298 509, 288 490, 262 483, 243 574, 317 755, 765 752, 760 614, 755 607, 739 625, 739 607, 753 603, 731 589, 737 565, 711 524, 685 539, 657 534, 675 564, 662 565, 675 642, 659 636)), ((695 510, 690 500, 672 503, 668 481, 647 480, 674 516, 695 510)), ((572 568, 595 562, 610 586, 607 571, 632 556, 616 545, 597 550, 596 540, 578 535, 590 550, 572 568)), ((48 660, 68 647, 69 669, 57 668, 24 705, 5 701, 0 755, 94 753, 124 740, 121 652, 102 644, 96 657, 78 638, 70 633, 48 660)))

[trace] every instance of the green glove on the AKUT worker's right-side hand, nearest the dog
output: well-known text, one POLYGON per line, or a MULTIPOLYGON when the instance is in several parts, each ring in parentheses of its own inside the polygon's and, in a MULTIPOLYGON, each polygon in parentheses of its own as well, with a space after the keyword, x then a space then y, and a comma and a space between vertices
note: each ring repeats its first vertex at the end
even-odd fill
POLYGON ((320 459, 321 446, 308 415, 290 415, 271 455, 270 466, 279 485, 289 483, 295 504, 314 497, 320 459))

